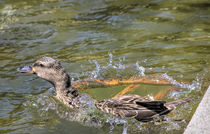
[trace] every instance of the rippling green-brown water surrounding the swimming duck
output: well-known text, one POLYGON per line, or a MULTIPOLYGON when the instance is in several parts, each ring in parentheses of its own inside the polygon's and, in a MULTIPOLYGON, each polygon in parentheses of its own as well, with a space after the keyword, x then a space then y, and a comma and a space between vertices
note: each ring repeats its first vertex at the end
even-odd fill
MULTIPOLYGON (((210 81, 209 6, 208 0, 0 1, 0 133, 182 133, 210 81), (193 102, 158 125, 84 126, 65 118, 71 110, 53 99, 49 83, 16 72, 43 56, 60 60, 74 81, 158 73, 172 85, 140 84, 128 93, 193 102)), ((101 100, 126 86, 82 91, 101 100)))

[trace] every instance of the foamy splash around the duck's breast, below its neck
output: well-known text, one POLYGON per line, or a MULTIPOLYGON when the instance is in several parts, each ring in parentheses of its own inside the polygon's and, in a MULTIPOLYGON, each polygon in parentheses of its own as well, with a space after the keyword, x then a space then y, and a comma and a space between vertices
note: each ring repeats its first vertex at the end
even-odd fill
POLYGON ((58 117, 76 121, 84 126, 102 126, 103 120, 101 120, 101 115, 95 111, 95 105, 92 98, 88 95, 84 95, 84 97, 79 99, 81 103, 85 103, 88 106, 79 109, 70 109, 64 105, 60 105, 60 103, 57 102, 57 99, 47 94, 28 97, 28 101, 24 103, 24 106, 31 109, 30 111, 37 112, 39 117, 36 118, 40 118, 40 120, 58 117))

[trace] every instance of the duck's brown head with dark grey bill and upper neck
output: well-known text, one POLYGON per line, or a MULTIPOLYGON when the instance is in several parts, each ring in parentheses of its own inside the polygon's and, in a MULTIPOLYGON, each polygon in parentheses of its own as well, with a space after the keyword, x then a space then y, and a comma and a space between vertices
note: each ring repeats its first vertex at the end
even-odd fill
POLYGON ((38 77, 52 83, 56 90, 64 90, 71 86, 69 75, 63 69, 60 62, 51 57, 42 57, 32 65, 19 67, 17 71, 27 74, 36 74, 38 77))

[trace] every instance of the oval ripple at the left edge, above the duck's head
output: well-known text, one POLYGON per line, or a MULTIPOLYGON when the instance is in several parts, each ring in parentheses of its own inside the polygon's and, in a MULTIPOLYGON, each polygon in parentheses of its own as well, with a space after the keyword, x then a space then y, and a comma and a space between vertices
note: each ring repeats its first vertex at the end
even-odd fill
POLYGON ((48 41, 55 27, 36 24, 14 24, 0 32, 0 44, 33 44, 48 41))

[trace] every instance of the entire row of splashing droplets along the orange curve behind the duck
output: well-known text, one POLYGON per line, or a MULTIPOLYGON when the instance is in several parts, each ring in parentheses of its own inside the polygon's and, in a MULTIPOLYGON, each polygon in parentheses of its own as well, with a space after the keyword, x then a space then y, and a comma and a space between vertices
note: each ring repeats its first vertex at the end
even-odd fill
MULTIPOLYGON (((95 70, 82 73, 80 76, 75 75, 76 76, 75 79, 80 79, 79 77, 83 77, 83 76, 88 77, 89 80, 93 78, 104 80, 107 78, 107 76, 111 78, 113 77, 119 77, 119 78, 126 77, 127 78, 127 75, 130 75, 131 77, 132 76, 141 77, 141 76, 146 76, 145 74, 146 70, 147 71, 153 70, 152 68, 146 69, 145 67, 140 65, 139 61, 137 61, 135 64, 130 64, 130 65, 123 64, 123 61, 125 61, 125 57, 119 58, 119 61, 114 61, 113 55, 111 53, 109 53, 109 61, 107 65, 101 66, 97 60, 90 60, 91 64, 92 63, 95 64, 96 66, 95 70)), ((142 62, 145 63, 147 62, 147 60, 141 61, 141 63, 142 62)), ((165 69, 164 66, 163 68, 165 69)), ((201 76, 201 77, 196 76, 196 79, 192 82, 192 84, 187 84, 183 82, 178 82, 173 77, 169 76, 167 73, 164 73, 158 76, 160 76, 160 78, 166 79, 175 87, 188 89, 186 93, 189 93, 193 90, 200 90, 202 86, 201 81, 202 81, 202 78, 204 77, 204 76, 201 76)), ((180 77, 183 77, 183 75, 180 75, 180 77)), ((74 79, 74 77, 72 79, 74 79)), ((173 91, 171 92, 171 95, 173 96, 177 93, 178 92, 173 91)))

